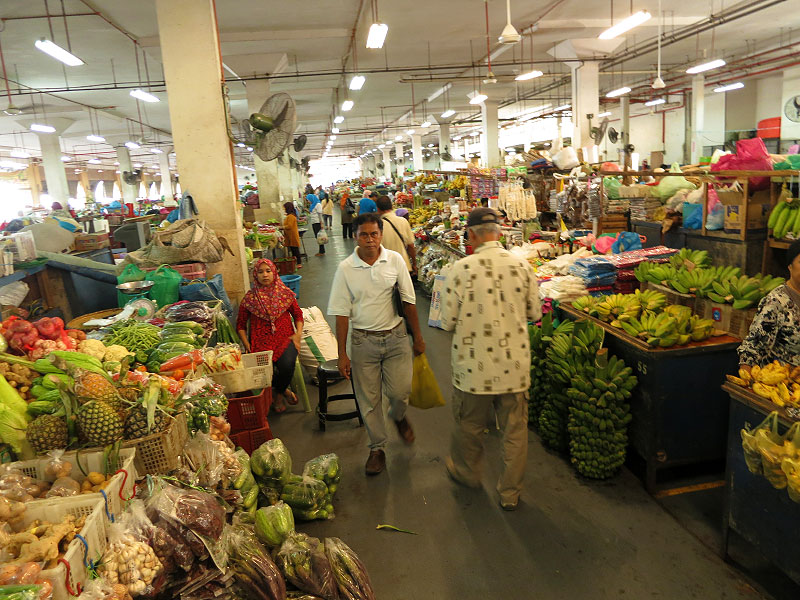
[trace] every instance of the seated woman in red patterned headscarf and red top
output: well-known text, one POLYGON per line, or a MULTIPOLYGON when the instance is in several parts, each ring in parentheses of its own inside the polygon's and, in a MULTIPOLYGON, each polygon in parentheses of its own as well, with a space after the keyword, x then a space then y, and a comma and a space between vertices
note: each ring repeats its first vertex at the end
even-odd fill
POLYGON ((239 305, 236 330, 247 352, 272 350, 275 412, 284 412, 286 402, 297 404, 297 397, 288 387, 303 335, 303 311, 271 260, 262 258, 253 264, 253 287, 239 305))

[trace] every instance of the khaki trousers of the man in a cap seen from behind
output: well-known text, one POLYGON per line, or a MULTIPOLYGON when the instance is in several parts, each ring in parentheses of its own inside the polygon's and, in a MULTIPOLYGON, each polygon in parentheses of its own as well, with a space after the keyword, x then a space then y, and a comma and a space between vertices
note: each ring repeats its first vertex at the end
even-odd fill
POLYGON ((483 432, 492 417, 492 406, 503 432, 505 468, 497 482, 497 493, 504 503, 516 503, 528 461, 528 405, 525 393, 470 394, 453 390, 453 416, 456 426, 450 447, 456 475, 468 483, 481 479, 483 432))

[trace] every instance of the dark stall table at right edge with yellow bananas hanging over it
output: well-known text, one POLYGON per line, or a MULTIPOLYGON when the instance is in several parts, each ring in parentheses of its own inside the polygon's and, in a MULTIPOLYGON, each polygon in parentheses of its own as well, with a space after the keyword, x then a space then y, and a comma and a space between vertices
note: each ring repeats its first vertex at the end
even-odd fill
POLYGON ((745 426, 756 427, 774 410, 779 415, 779 432, 784 434, 800 418, 800 411, 792 418, 785 408, 752 390, 731 383, 725 383, 722 389, 730 401, 722 556, 728 558, 728 542, 734 531, 800 584, 800 504, 793 502, 785 489, 775 489, 763 475, 750 472, 741 436, 745 426))

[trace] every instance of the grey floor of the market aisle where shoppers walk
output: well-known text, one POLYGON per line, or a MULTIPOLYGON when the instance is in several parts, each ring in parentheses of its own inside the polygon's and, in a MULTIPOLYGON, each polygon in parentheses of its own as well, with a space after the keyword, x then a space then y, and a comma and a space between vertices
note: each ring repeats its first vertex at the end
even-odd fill
MULTIPOLYGON (((353 250, 353 242, 341 238, 338 214, 333 231, 327 255, 316 258, 311 252, 300 272, 301 306, 316 305, 323 312, 336 265, 353 250)), ((420 315, 427 318, 428 299, 417 299, 420 315)), ((449 404, 450 334, 427 325, 423 331, 449 404)), ((308 390, 316 406, 317 388, 308 390)), ((444 470, 449 406, 411 409, 409 418, 416 444, 407 448, 392 429, 387 471, 369 479, 364 475, 367 437, 357 421, 332 423, 322 433, 315 416, 300 407, 270 421, 291 451, 295 470, 324 452, 341 457, 336 518, 311 523, 304 531, 345 539, 366 564, 380 600, 761 597, 627 470, 607 483, 579 480, 531 433, 520 509, 506 513, 494 492, 500 467, 497 432, 487 436, 484 489, 468 490, 453 484, 444 470), (419 535, 376 531, 380 523, 419 535)))

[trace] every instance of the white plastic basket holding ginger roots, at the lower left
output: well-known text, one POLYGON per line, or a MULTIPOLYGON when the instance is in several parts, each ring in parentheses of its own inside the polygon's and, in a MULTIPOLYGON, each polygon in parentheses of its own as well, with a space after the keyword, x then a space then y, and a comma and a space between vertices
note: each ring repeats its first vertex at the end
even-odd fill
POLYGON ((73 496, 59 498, 57 501, 48 499, 26 504, 25 525, 36 519, 59 523, 67 515, 86 515, 86 524, 81 530, 80 538, 72 540, 62 558, 69 566, 59 561, 57 567, 44 570, 40 575, 53 585, 53 600, 70 600, 71 596, 77 596, 79 586, 83 586, 88 577, 89 562, 97 562, 106 551, 108 533, 103 514, 105 507, 103 501, 97 499, 97 494, 92 496, 73 496))

